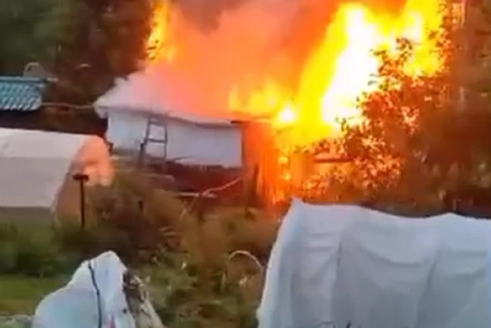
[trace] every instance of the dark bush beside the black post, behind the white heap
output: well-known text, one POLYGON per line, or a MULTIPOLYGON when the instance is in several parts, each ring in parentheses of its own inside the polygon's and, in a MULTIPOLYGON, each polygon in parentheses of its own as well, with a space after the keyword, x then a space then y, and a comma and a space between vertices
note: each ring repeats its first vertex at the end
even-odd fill
MULTIPOLYGON (((57 238, 64 249, 80 257, 94 256, 106 250, 115 251, 129 265, 154 261, 166 240, 161 228, 166 220, 160 220, 145 210, 146 194, 151 187, 138 175, 118 177, 107 188, 90 190, 87 204, 87 226, 63 224, 57 238)), ((164 209, 165 213, 168 213, 164 209)))

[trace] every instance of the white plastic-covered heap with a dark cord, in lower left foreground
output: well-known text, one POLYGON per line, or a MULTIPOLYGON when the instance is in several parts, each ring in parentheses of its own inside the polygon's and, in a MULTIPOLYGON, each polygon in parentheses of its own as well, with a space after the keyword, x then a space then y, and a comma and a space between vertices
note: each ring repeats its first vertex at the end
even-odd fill
MULTIPOLYGON (((129 311, 123 289, 123 275, 126 271, 114 252, 105 252, 95 259, 84 261, 65 287, 39 303, 34 314, 33 328, 98 328, 98 304, 102 328, 138 328, 138 318, 133 317, 129 311), (100 303, 90 267, 100 292, 100 303)), ((148 299, 142 302, 141 307, 151 316, 150 326, 163 327, 148 299)))

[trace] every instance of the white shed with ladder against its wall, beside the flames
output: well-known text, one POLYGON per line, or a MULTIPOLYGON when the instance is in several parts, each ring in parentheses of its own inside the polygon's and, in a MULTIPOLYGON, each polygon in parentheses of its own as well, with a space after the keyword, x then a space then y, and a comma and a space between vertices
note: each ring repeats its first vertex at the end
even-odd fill
POLYGON ((157 88, 144 87, 133 76, 117 82, 96 101, 97 113, 107 118, 106 139, 115 151, 138 152, 149 117, 157 116, 160 124, 151 127, 150 136, 167 142, 148 144, 146 154, 187 165, 242 166, 242 125, 230 113, 189 109, 200 106, 197 99, 186 101, 193 97, 189 94, 182 95, 185 105, 170 104, 157 88))

